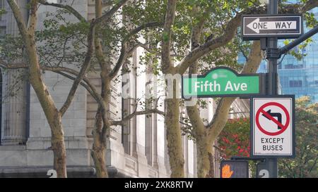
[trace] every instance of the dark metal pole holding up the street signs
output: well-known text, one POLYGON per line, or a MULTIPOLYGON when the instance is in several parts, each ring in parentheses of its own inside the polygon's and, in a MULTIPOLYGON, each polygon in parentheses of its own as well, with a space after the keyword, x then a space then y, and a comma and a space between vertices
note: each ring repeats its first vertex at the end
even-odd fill
MULTIPOLYGON (((267 6, 267 13, 269 15, 278 14, 278 0, 269 0, 269 4, 267 6)), ((269 37, 267 38, 267 49, 277 49, 277 37, 269 37)), ((267 68, 269 72, 269 89, 268 95, 277 95, 278 94, 278 86, 277 86, 277 58, 269 58, 267 61, 267 68)), ((277 166, 277 158, 266 158, 266 167, 269 171, 269 177, 277 178, 278 176, 278 166, 277 166)))

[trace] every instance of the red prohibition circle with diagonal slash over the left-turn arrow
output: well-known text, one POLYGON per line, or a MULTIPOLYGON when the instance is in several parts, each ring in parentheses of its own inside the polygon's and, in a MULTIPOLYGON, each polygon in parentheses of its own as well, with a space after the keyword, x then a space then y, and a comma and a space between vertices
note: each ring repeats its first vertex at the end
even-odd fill
POLYGON ((287 127, 289 125, 289 122, 290 122, 290 115, 288 113, 288 110, 283 105, 281 105, 280 103, 269 102, 269 103, 265 103, 264 105, 261 105, 259 110, 257 110, 257 114, 255 116, 255 120, 256 120, 256 123, 257 123, 257 127, 259 128, 259 130, 261 132, 263 132, 264 134, 269 135, 269 136, 276 136, 278 134, 281 134, 281 133, 285 132, 285 130, 287 129, 287 127), (276 106, 278 108, 281 108, 283 110, 283 112, 285 113, 285 116, 286 116, 285 124, 281 124, 281 122, 278 122, 278 120, 276 120, 274 117, 269 115, 269 113, 267 113, 264 110, 264 108, 266 108, 268 106, 271 106, 271 105, 276 106), (281 127, 281 130, 279 130, 278 132, 267 132, 263 127, 261 127, 261 124, 259 123, 259 117, 261 116, 261 113, 264 114, 266 117, 268 117, 271 121, 273 121, 279 127, 281 127))

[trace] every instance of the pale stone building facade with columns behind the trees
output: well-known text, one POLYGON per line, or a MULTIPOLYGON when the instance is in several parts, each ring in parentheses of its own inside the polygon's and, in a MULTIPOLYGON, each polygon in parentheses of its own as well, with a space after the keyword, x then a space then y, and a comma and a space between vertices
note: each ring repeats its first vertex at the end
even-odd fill
MULTIPOLYGON (((26 4, 28 1, 16 1, 27 22, 28 6, 26 4)), ((94 0, 55 0, 55 2, 73 6, 85 18, 95 17, 94 0)), ((0 0, 0 6, 6 8, 7 11, 5 15, 1 16, 0 34, 18 35, 16 22, 6 1, 0 0)), ((57 8, 50 6, 40 6, 38 30, 43 27, 45 12, 56 10, 57 8)), ((69 20, 76 21, 71 17, 69 20)), ((142 49, 135 51, 130 59, 133 66, 139 65, 139 56, 142 53, 142 49)), ((25 58, 14 58, 14 61, 23 62, 23 59, 25 58)), ((23 77, 23 75, 25 75, 23 70, 6 70, 2 72, 1 76, 0 177, 48 177, 47 171, 53 166, 53 153, 50 150, 51 132, 33 88, 23 78, 16 81, 17 77, 23 77), (17 84, 20 89, 11 96, 9 94, 11 88, 16 87, 17 84)), ((100 87, 97 72, 90 72, 88 77, 96 87, 100 87)), ((132 98, 136 98, 142 96, 146 91, 145 82, 149 77, 147 74, 133 75, 133 77, 123 80, 122 83, 129 84, 129 94, 132 98)), ((45 72, 44 79, 57 107, 61 107, 71 88, 71 81, 54 72, 45 72)), ((122 84, 113 84, 112 89, 110 111, 112 117, 120 119, 123 111, 132 112, 134 108, 131 107, 130 100, 118 96, 122 94, 122 84), (122 113, 116 113, 118 111, 122 113)), ((159 86, 158 89, 160 89, 159 86)), ((245 101, 237 103, 235 111, 248 110, 245 101)), ((95 177, 90 148, 92 147, 92 130, 97 107, 97 103, 86 89, 79 87, 69 110, 63 117, 69 177, 95 177)), ((164 108, 162 106, 160 109, 164 110, 164 108)), ((208 105, 207 109, 201 111, 202 117, 211 120, 215 108, 215 105, 208 105)), ((195 143, 188 140, 187 136, 183 136, 182 141, 186 177, 196 177, 195 143)), ((218 167, 217 162, 214 165, 218 167)), ((107 140, 107 169, 110 177, 169 177, 170 167, 163 117, 156 114, 150 117, 140 115, 131 119, 123 127, 113 127, 111 136, 107 140)), ((216 176, 218 176, 218 169, 215 168, 215 170, 216 176)))

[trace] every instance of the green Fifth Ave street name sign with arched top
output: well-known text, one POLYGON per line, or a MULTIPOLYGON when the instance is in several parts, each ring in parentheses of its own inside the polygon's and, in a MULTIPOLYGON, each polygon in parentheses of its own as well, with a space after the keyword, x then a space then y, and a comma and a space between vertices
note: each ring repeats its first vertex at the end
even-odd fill
POLYGON ((182 77, 182 98, 249 97, 260 94, 259 74, 238 74, 235 70, 218 67, 205 75, 182 77))

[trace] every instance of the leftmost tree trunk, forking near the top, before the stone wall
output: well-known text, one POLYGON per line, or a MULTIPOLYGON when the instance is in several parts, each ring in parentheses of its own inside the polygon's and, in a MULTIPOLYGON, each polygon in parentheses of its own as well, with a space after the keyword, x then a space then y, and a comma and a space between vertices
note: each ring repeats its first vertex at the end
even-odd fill
POLYGON ((47 87, 42 79, 40 64, 37 58, 37 49, 35 44, 35 27, 37 23, 37 1, 30 1, 30 19, 29 27, 23 23, 20 10, 16 1, 8 0, 8 5, 13 11, 19 32, 25 44, 25 51, 28 56, 28 72, 30 84, 32 85, 41 107, 47 117, 47 122, 52 133, 52 150, 54 154, 54 169, 57 171, 57 177, 67 177, 66 175, 66 148, 64 143, 64 133, 61 124, 61 113, 54 105, 52 96, 49 94, 47 87))

